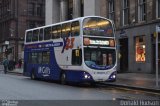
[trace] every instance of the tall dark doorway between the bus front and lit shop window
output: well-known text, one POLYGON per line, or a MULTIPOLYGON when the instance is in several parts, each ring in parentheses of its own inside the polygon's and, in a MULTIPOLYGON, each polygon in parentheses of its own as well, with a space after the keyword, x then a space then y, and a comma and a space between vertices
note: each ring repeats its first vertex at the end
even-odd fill
POLYGON ((120 72, 128 71, 128 38, 119 40, 120 42, 120 72))

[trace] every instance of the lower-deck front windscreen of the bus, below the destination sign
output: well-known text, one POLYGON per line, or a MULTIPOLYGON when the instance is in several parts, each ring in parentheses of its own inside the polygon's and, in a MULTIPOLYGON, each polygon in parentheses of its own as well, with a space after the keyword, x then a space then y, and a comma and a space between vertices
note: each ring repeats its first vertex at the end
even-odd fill
POLYGON ((84 49, 84 60, 88 67, 106 67, 113 66, 116 60, 115 49, 95 49, 85 48, 84 49))

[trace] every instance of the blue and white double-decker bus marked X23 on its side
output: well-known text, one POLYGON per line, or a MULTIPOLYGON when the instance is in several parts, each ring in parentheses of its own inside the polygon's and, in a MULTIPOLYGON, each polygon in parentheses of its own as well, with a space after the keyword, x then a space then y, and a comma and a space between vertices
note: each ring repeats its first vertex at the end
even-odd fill
POLYGON ((26 30, 24 75, 66 82, 116 80, 114 25, 99 16, 26 30))

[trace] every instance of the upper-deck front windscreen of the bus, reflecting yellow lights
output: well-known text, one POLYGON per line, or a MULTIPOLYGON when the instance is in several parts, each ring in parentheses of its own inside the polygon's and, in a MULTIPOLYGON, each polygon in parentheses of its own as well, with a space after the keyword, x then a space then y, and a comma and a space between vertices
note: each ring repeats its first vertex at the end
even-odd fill
POLYGON ((114 37, 111 22, 103 18, 86 18, 83 21, 83 35, 114 37))

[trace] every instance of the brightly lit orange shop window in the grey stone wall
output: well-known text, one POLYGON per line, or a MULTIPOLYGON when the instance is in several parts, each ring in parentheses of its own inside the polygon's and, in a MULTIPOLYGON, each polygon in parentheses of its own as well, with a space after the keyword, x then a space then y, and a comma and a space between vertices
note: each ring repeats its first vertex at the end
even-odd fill
POLYGON ((146 61, 146 45, 145 36, 135 37, 135 51, 136 51, 136 62, 146 61))

